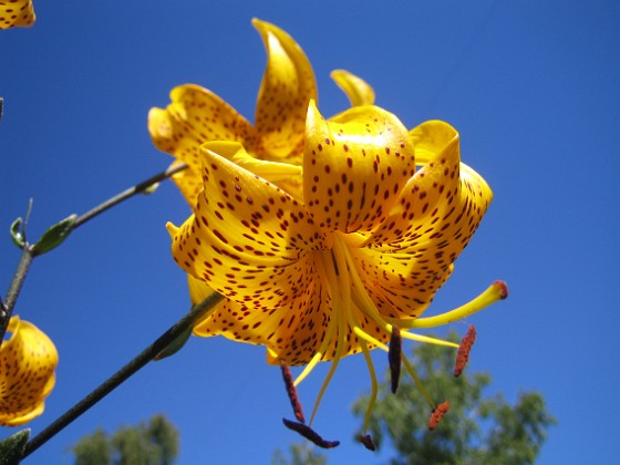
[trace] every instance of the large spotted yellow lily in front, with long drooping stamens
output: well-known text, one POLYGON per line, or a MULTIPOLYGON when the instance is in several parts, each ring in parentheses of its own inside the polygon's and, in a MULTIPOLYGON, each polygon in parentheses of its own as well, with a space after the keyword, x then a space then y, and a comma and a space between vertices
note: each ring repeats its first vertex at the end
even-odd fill
MULTIPOLYGON (((269 363, 307 365, 296 384, 319 361, 333 361, 316 412, 342 356, 364 353, 376 392, 370 349, 388 351, 399 329, 403 338, 457 347, 407 329, 462 319, 506 288, 494 285, 459 309, 420 318, 493 197, 461 163, 452 126, 432 121, 407 131, 372 105, 326 121, 311 101, 304 140, 294 167, 300 198, 248 168, 240 143, 204 144, 204 190, 194 214, 168 230, 193 301, 209 287, 228 298, 195 334, 261 344, 269 363)), ((272 175, 283 168, 255 165, 272 175)))

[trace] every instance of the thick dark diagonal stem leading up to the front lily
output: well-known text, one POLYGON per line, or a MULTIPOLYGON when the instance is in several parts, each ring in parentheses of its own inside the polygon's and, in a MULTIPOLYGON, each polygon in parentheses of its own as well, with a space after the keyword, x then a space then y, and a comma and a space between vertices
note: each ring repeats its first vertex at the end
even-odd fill
POLYGON ((75 418, 82 415, 90 407, 95 405, 99 401, 105 397, 110 392, 121 385, 131 375, 152 361, 157 354, 159 354, 164 349, 166 349, 172 342, 175 341, 184 331, 194 327, 199 320, 205 318, 207 313, 215 309, 217 303, 224 299, 217 292, 211 293, 200 303, 194 306, 192 310, 176 322, 170 329, 168 329, 162 337, 159 337, 153 344, 146 348, 140 355, 133 359, 130 363, 110 376, 104 381, 99 388, 86 395, 82 401, 76 403, 70 410, 68 410, 62 416, 60 416, 55 422, 49 425, 45 430, 34 436, 27 445, 23 458, 28 457, 43 444, 45 444, 55 434, 61 432, 65 426, 72 423, 75 418))

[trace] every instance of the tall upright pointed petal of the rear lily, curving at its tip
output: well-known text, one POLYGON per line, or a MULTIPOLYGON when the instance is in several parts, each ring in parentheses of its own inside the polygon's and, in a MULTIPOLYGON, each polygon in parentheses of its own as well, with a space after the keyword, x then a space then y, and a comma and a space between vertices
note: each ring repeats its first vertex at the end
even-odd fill
POLYGON ((267 69, 256 106, 255 125, 267 157, 302 152, 308 102, 317 99, 314 72, 294 40, 268 22, 252 20, 267 49, 267 69))

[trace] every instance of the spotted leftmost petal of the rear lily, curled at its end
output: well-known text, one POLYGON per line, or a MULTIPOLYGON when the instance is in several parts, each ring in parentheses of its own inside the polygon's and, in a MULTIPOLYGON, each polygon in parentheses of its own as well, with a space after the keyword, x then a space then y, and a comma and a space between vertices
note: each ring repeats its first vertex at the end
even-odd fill
POLYGON ((200 144, 237 141, 252 154, 260 155, 261 149, 251 124, 210 91, 182 85, 173 89, 170 100, 166 110, 148 112, 148 132, 157 148, 189 165, 173 179, 193 205, 202 188, 200 144))

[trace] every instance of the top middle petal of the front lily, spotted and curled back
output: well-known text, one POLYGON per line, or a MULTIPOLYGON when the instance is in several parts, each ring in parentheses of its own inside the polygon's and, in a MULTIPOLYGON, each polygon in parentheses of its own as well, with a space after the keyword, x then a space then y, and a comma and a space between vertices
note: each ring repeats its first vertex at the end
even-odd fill
POLYGON ((324 230, 369 232, 414 173, 413 144, 393 114, 354 106, 326 121, 310 104, 303 199, 324 230))

